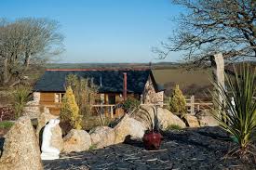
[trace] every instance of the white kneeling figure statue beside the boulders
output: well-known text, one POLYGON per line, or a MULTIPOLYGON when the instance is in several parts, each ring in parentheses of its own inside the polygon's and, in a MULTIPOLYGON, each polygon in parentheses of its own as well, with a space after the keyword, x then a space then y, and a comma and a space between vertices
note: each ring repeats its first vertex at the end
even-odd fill
POLYGON ((60 150, 50 146, 50 141, 52 137, 51 128, 55 127, 57 124, 60 124, 59 119, 50 119, 48 124, 45 126, 44 132, 43 132, 43 140, 42 140, 42 153, 41 153, 41 159, 42 160, 55 160, 59 159, 60 156, 60 150))

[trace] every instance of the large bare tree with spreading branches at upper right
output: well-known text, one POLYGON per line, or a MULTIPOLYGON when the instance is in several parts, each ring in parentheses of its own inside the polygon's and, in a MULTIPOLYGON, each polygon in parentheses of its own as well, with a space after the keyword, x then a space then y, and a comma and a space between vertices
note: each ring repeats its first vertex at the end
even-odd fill
POLYGON ((182 51, 197 64, 222 52, 224 59, 256 59, 255 0, 173 0, 186 10, 176 19, 179 28, 155 49, 160 58, 182 51))

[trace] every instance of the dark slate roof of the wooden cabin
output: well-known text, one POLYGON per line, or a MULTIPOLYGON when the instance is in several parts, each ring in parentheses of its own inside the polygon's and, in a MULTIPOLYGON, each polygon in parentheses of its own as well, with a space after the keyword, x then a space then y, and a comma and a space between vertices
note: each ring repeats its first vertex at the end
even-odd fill
POLYGON ((156 91, 164 90, 155 83, 150 70, 47 70, 34 85, 34 91, 65 92, 65 77, 75 74, 93 78, 93 82, 100 86, 100 93, 122 93, 124 72, 127 72, 128 77, 128 93, 141 94, 149 76, 152 77, 156 91))

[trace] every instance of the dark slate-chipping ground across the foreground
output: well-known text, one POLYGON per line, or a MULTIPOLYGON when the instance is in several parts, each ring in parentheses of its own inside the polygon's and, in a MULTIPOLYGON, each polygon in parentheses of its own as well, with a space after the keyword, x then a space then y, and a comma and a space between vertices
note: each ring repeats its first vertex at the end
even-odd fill
POLYGON ((236 158, 223 159, 233 143, 216 127, 170 131, 160 150, 144 150, 141 142, 128 141, 101 150, 61 154, 44 161, 45 169, 256 169, 236 158))

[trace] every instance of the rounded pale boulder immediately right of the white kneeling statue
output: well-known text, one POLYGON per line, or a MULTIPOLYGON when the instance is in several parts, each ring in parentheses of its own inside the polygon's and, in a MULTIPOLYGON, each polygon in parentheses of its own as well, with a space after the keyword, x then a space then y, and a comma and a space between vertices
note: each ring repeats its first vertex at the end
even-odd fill
POLYGON ((72 129, 63 140, 63 152, 85 151, 91 145, 90 136, 85 130, 72 129))

